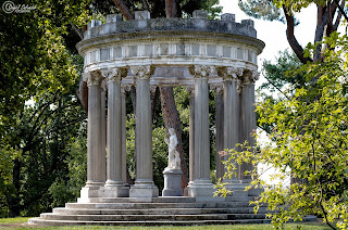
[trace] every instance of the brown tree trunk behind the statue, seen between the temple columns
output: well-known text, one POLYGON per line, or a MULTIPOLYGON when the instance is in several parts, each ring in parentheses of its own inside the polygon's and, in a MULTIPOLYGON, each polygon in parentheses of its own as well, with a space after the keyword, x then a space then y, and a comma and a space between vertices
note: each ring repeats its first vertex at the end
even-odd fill
POLYGON ((181 127, 181 118, 179 114, 176 110, 175 101, 174 101, 174 91, 173 87, 160 87, 161 92, 161 106, 162 106, 162 114, 165 124, 165 129, 169 130, 170 128, 174 128, 176 137, 177 137, 177 145, 176 151, 181 155, 181 167, 183 170, 182 177, 182 188, 188 183, 188 171, 187 165, 183 149, 183 141, 182 141, 182 127, 181 127))

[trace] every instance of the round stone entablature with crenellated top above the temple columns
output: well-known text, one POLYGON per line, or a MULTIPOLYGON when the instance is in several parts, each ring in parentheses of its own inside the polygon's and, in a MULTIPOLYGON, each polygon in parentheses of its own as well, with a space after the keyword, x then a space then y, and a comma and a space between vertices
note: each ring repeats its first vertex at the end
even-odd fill
MULTIPOLYGON (((192 64, 257 69, 257 56, 264 43, 257 39, 253 22, 236 23, 233 14, 212 21, 203 18, 203 14, 195 13, 196 18, 150 18, 148 12, 137 12, 133 21, 123 22, 120 15, 108 15, 107 24, 92 21, 84 40, 77 44, 85 59, 85 71, 192 64)), ((166 78, 157 73, 153 78, 157 76, 166 78)), ((127 84, 132 81, 124 79, 127 84)))

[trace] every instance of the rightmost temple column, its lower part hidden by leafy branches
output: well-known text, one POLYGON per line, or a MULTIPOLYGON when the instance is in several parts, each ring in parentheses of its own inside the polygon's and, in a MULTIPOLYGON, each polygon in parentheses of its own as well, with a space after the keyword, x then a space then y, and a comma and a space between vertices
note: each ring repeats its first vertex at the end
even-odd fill
MULTIPOLYGON (((240 129, 240 142, 248 141, 250 145, 254 145, 253 132, 257 129, 256 122, 256 107, 254 107, 254 82, 259 78, 259 73, 257 71, 248 71, 244 74, 241 81, 240 91, 240 115, 241 129, 240 129)), ((249 183, 251 181, 250 176, 245 176, 245 171, 251 171, 253 169, 251 164, 243 164, 240 166, 239 179, 244 183, 249 183)))

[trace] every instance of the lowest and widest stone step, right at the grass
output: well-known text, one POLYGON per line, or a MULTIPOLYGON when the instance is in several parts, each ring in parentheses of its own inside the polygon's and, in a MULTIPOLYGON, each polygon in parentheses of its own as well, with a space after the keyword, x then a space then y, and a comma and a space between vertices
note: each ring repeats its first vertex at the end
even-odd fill
MULTIPOLYGON (((29 225, 38 226, 202 226, 202 225, 246 225, 246 223, 270 223, 270 219, 235 219, 235 220, 185 220, 185 221, 77 221, 77 220, 47 220, 42 218, 30 218, 29 225)), ((270 227, 271 228, 271 227, 270 227)))

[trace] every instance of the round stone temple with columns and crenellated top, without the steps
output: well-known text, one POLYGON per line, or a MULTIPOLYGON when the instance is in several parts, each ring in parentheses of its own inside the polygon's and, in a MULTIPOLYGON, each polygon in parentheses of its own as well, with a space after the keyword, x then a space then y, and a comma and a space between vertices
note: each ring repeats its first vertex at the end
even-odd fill
MULTIPOLYGON (((113 14, 107 16, 105 24, 89 23, 77 44, 88 85, 87 183, 78 202, 159 195, 152 179, 150 95, 161 86, 185 86, 190 92, 190 181, 184 195, 213 199, 209 90, 216 92, 216 152, 246 140, 252 144, 257 56, 263 48, 253 21, 236 23, 234 14, 213 21, 207 18, 206 11, 195 11, 192 18, 150 18, 148 11, 139 11, 132 21, 123 22, 121 15, 113 14), (135 184, 129 187, 125 180, 125 90, 130 86, 137 92, 137 159, 135 184)), ((216 156, 216 175, 222 177, 221 161, 226 156, 216 156)), ((241 165, 235 178, 225 180, 233 195, 257 193, 244 191, 250 182, 244 171, 250 169, 250 165, 241 165)))

